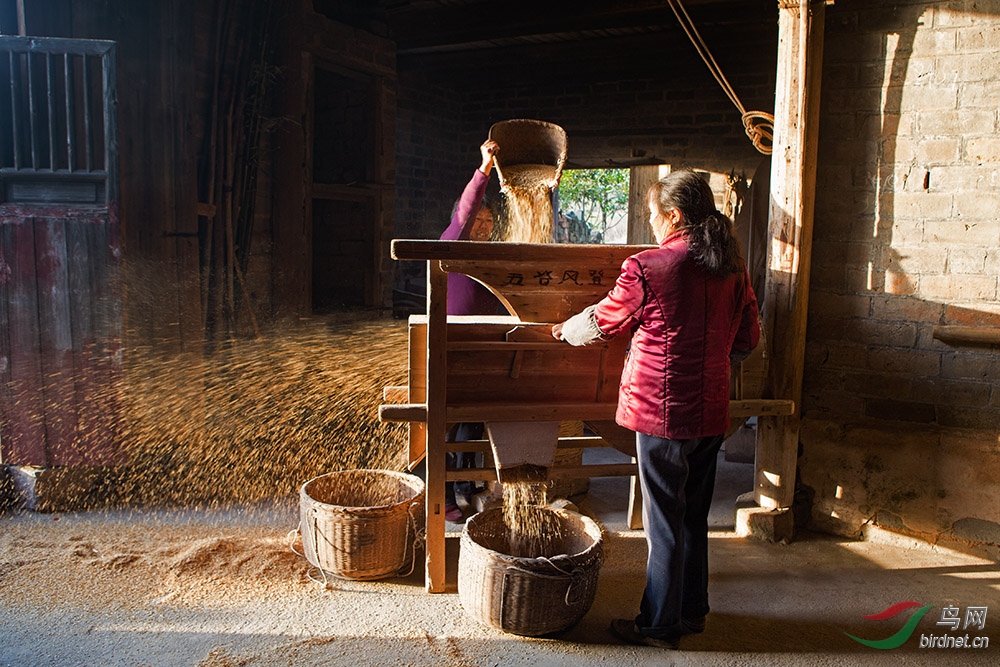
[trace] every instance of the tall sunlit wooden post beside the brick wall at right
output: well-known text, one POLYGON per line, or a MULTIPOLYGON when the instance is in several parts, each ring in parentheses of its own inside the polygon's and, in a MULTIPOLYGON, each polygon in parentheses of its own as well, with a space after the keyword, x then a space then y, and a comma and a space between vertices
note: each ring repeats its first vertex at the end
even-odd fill
MULTIPOLYGON (((809 260, 812 252, 820 73, 826 0, 779 0, 774 150, 764 317, 770 332, 768 389, 801 406, 809 260)), ((789 507, 795 494, 801 407, 758 421, 754 500, 789 507)))

